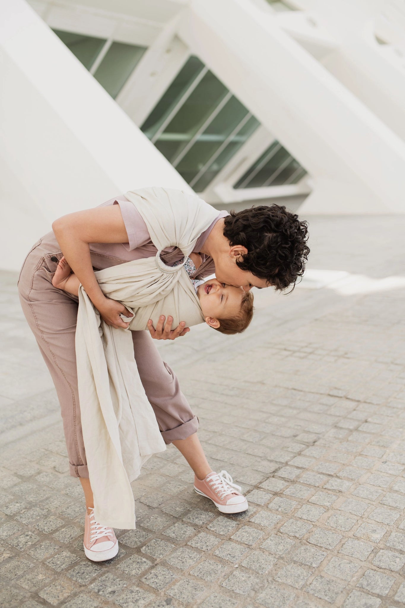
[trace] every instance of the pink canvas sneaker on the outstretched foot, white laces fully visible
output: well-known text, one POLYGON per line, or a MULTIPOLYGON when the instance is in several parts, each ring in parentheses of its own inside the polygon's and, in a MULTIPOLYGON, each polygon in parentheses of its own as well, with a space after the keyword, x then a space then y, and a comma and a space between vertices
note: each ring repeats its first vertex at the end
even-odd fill
POLYGON ((200 496, 212 500, 221 513, 242 513, 249 506, 238 491, 242 488, 233 483, 233 478, 226 471, 208 473, 203 480, 194 476, 194 489, 200 496))

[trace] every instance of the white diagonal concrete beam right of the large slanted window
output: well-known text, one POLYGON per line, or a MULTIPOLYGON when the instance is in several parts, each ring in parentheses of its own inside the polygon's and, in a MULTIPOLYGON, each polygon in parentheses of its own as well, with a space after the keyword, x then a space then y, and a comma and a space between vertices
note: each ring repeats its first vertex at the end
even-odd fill
POLYGON ((318 183, 322 212, 405 212, 404 143, 273 15, 248 0, 192 0, 179 35, 313 176, 308 213, 311 201, 319 212, 318 183))

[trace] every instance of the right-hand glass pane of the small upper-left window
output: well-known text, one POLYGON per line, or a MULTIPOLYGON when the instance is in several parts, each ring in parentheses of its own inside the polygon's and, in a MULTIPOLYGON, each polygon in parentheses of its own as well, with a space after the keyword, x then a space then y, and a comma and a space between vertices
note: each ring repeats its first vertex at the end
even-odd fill
POLYGON ((145 50, 144 46, 112 43, 94 74, 112 98, 117 97, 145 50))

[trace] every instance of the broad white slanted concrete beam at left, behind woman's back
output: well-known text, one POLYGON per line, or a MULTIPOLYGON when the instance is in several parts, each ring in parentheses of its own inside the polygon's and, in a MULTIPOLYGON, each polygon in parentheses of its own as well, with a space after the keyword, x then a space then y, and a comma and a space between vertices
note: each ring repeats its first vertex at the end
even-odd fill
POLYGON ((0 2, 0 80, 1 268, 65 213, 148 185, 192 192, 24 0, 0 2))

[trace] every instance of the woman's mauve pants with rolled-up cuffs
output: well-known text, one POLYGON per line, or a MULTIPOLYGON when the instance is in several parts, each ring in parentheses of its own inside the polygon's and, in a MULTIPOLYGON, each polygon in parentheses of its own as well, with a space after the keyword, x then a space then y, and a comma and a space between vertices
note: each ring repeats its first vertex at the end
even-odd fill
MULTIPOLYGON (((63 428, 69 454, 70 475, 89 477, 81 430, 77 388, 75 331, 78 299, 52 285, 52 277, 62 253, 53 233, 45 235, 30 250, 18 282, 19 298, 27 322, 55 384, 61 406, 63 428), (53 260, 51 258, 54 258, 53 260)), ((123 258, 92 254, 96 268, 129 261, 131 252, 123 248, 123 258)), ((134 356, 141 382, 154 409, 166 443, 185 439, 196 432, 197 416, 180 391, 179 381, 162 361, 148 331, 132 331, 134 356)))

